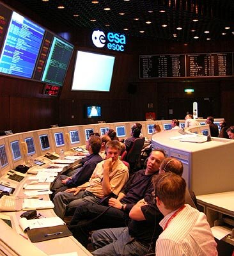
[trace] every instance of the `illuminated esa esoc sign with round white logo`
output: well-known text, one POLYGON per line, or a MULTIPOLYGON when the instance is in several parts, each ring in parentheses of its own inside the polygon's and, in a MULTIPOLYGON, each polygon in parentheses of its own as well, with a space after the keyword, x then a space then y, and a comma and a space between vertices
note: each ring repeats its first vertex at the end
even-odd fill
POLYGON ((95 30, 92 34, 92 41, 98 48, 102 48, 106 45, 109 50, 123 52, 126 44, 126 37, 125 35, 113 32, 109 32, 107 33, 107 36, 105 36, 103 31, 95 30))

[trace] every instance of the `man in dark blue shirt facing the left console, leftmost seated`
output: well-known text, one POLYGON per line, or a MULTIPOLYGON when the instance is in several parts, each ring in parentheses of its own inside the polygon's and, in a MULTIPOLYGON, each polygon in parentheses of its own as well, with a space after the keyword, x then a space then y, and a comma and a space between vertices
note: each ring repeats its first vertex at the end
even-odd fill
POLYGON ((97 166, 97 163, 100 163, 100 161, 103 160, 99 155, 100 148, 100 137, 90 136, 90 139, 86 141, 86 150, 88 150, 90 155, 85 157, 86 162, 82 168, 77 169, 76 173, 72 175, 72 177, 59 175, 54 181, 54 184, 52 184, 51 190, 56 194, 59 191, 65 191, 68 188, 74 188, 87 182, 90 179, 93 170, 97 166))

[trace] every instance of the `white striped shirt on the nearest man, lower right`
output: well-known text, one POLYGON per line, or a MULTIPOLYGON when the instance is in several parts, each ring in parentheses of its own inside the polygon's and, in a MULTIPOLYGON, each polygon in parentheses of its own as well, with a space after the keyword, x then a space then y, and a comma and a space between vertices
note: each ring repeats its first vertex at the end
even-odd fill
POLYGON ((175 218, 176 211, 166 215, 160 226, 164 229, 156 243, 157 256, 217 256, 214 236, 203 212, 185 205, 175 218), (171 219, 171 221, 169 221, 171 219))

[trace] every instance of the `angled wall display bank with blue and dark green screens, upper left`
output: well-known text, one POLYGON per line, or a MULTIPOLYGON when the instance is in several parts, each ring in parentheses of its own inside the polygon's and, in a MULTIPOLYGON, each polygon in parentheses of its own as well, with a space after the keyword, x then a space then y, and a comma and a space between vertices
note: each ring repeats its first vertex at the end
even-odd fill
POLYGON ((74 46, 0 4, 0 73, 63 86, 74 46))

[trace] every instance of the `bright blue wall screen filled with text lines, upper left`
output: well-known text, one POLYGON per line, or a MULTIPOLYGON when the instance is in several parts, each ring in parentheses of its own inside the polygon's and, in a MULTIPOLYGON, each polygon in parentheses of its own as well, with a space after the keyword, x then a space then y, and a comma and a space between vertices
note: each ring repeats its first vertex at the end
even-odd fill
POLYGON ((45 29, 13 12, 0 56, 0 72, 31 78, 44 32, 45 29))

